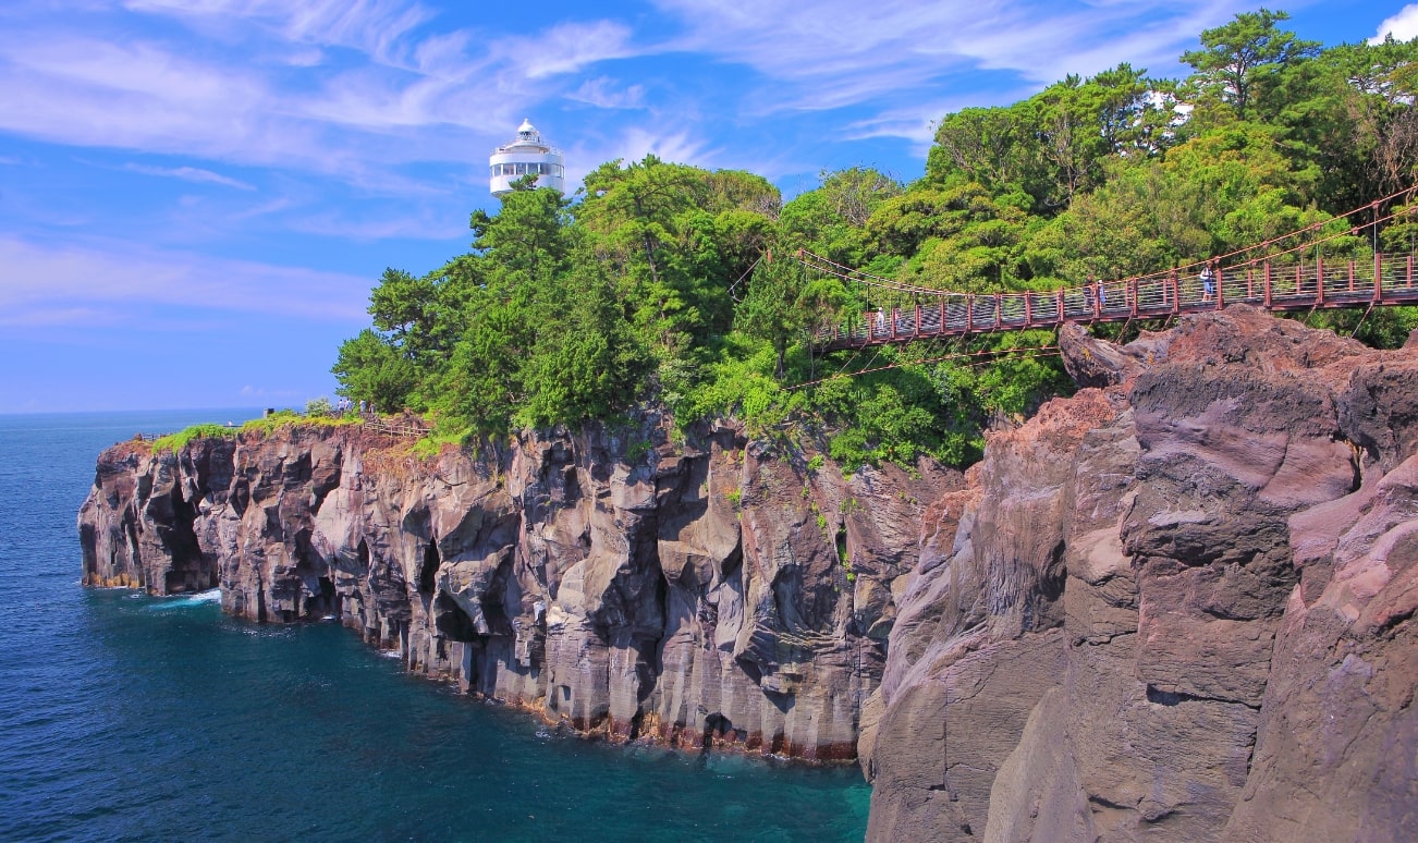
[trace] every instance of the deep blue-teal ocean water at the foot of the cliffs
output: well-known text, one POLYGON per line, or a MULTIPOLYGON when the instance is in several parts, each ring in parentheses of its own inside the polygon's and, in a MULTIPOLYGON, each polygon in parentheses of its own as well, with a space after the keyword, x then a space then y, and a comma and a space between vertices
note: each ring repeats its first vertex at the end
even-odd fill
POLYGON ((0 840, 861 840, 851 768, 610 746, 333 624, 79 586, 98 453, 252 410, 0 416, 0 840))

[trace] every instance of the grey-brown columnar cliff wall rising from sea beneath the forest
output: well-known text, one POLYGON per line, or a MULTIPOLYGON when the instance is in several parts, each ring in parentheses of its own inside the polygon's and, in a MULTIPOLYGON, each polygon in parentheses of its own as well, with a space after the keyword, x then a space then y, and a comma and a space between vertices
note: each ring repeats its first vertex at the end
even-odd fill
POLYGON ((115 446, 79 514, 85 582, 221 588, 261 622, 337 619, 410 670, 580 731, 856 755, 922 501, 732 427, 445 448, 350 427, 115 446))

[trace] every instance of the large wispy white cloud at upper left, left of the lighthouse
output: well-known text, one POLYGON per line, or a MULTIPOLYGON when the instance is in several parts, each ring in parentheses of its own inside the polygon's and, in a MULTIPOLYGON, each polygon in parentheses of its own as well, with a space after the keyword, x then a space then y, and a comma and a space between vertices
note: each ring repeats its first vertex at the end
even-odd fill
MULTIPOLYGON (((607 20, 547 21, 489 40, 427 31, 434 14, 397 0, 129 0, 125 9, 184 21, 204 48, 23 18, 0 31, 0 131, 374 179, 372 170, 401 163, 465 160, 469 148, 503 140, 537 104, 581 85, 581 70, 634 54, 631 30, 607 20), (337 48, 339 61, 325 61, 337 48)), ((603 106, 631 105, 641 91, 603 106)))

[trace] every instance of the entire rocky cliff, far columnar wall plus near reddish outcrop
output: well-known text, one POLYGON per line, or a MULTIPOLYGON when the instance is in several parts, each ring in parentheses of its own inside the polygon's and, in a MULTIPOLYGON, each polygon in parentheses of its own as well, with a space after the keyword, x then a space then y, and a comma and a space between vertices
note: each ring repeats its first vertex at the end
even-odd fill
POLYGON ((654 419, 118 446, 85 580, 336 617, 583 731, 859 755, 873 840, 1418 839, 1418 348, 1244 307, 1061 345, 1085 389, 964 477, 654 419))

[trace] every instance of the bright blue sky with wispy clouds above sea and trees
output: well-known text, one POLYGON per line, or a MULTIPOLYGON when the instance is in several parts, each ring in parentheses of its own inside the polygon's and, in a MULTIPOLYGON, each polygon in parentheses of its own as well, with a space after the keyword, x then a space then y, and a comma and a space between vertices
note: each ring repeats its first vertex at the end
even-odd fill
MULTIPOLYGON (((1333 45, 1418 4, 1269 3, 1333 45)), ((523 118, 569 184, 647 153, 791 197, 1066 74, 1181 78, 1225 0, 0 0, 0 413, 303 407, 386 267, 495 211, 523 118)), ((569 186, 569 190, 571 187, 569 186)))

